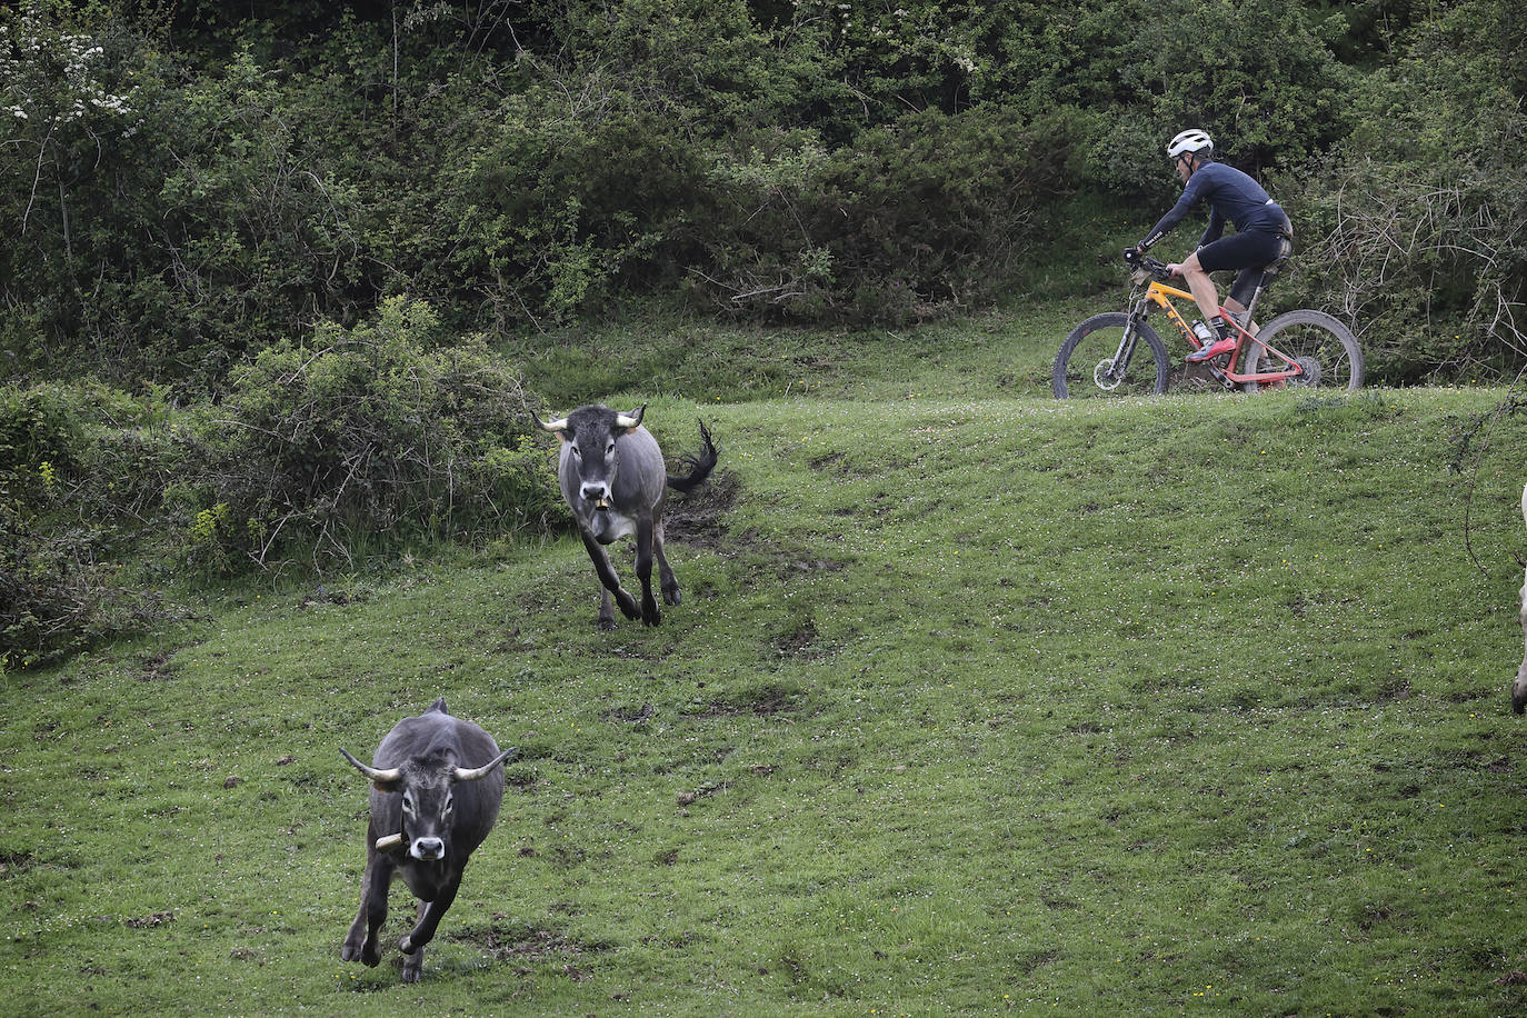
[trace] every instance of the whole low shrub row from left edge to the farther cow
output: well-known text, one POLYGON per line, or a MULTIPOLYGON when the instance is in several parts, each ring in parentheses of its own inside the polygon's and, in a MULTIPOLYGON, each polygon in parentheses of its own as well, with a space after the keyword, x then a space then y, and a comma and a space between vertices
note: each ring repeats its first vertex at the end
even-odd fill
POLYGON ((391 301, 263 351, 221 404, 0 388, 0 668, 162 624, 176 612, 154 577, 179 565, 348 569, 360 551, 557 525, 518 377, 481 340, 447 340, 428 305, 391 301))

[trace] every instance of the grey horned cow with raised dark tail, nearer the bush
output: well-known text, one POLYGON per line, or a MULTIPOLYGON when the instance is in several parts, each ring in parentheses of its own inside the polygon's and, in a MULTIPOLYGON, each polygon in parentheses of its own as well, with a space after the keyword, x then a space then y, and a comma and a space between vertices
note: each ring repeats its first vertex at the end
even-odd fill
POLYGON ((689 476, 672 478, 663 466, 663 450, 641 417, 646 404, 631 414, 618 414, 608 406, 580 406, 556 421, 536 423, 562 440, 557 479, 562 498, 577 517, 579 534, 602 585, 599 597, 600 629, 615 627, 611 597, 626 618, 640 618, 647 626, 663 621, 657 598, 652 597, 652 560, 658 562, 663 600, 678 604, 678 580, 663 554, 663 504, 667 488, 689 491, 699 487, 716 467, 716 444, 705 423, 699 423, 704 443, 698 456, 684 456, 689 476), (620 586, 605 545, 620 537, 637 537, 637 575, 641 578, 641 604, 620 586))

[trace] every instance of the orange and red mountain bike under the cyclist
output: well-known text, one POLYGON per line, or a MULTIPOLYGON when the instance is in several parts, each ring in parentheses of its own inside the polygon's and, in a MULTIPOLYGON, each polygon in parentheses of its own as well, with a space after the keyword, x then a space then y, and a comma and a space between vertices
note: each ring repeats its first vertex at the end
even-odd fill
MULTIPOLYGON (((1167 266, 1133 250, 1124 252, 1135 284, 1127 311, 1093 314, 1070 331, 1055 356, 1051 388, 1057 400, 1122 395, 1161 395, 1170 382, 1167 345, 1145 321, 1153 308, 1182 333, 1193 350, 1203 342, 1194 334, 1174 299, 1193 301, 1186 290, 1167 285, 1174 276, 1167 266)), ((1220 316, 1235 330, 1235 350, 1202 362, 1226 389, 1362 388, 1362 348, 1356 336, 1324 311, 1286 311, 1255 336, 1243 327, 1252 321, 1258 287, 1246 311, 1220 316), (1238 365, 1238 369, 1237 369, 1238 365)))

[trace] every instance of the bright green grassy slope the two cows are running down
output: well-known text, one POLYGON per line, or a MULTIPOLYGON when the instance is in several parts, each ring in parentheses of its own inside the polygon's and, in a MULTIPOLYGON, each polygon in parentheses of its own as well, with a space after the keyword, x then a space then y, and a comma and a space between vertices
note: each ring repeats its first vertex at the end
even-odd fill
MULTIPOLYGON (((722 444, 660 629, 597 632, 563 540, 6 676, 9 1001, 1527 1009, 1527 423, 1449 469, 1498 391, 1070 406, 794 368, 803 397, 626 394, 670 455, 696 414, 722 444), (365 788, 336 746, 440 694, 522 757, 403 987, 395 948, 339 960, 365 788)), ((408 913, 399 885, 389 945, 408 913)))

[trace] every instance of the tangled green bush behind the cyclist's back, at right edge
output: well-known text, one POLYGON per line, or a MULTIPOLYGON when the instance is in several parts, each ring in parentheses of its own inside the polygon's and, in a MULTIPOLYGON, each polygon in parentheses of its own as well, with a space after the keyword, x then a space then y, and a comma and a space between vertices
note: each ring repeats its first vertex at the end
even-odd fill
POLYGON ((1527 73, 1504 5, 1457 5, 1353 90, 1356 128, 1280 182, 1303 299, 1356 321, 1390 382, 1527 359, 1527 73))

